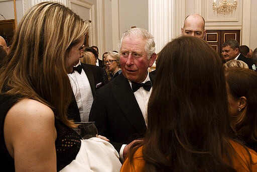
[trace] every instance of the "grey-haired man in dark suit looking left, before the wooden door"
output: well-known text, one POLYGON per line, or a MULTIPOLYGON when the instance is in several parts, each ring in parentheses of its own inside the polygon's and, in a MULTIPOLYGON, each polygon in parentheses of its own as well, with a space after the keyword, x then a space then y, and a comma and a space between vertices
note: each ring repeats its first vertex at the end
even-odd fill
POLYGON ((222 44, 222 54, 228 61, 241 60, 248 65, 249 69, 252 69, 253 63, 240 53, 239 43, 235 39, 229 39, 222 44))

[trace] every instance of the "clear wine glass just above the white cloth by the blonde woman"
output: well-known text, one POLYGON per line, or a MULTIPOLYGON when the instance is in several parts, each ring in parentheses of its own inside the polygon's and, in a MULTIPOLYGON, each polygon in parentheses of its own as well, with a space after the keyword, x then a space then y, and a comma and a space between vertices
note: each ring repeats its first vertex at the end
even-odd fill
POLYGON ((75 124, 79 124, 79 126, 75 128, 75 131, 77 131, 82 139, 98 136, 98 131, 94 122, 75 122, 75 124))

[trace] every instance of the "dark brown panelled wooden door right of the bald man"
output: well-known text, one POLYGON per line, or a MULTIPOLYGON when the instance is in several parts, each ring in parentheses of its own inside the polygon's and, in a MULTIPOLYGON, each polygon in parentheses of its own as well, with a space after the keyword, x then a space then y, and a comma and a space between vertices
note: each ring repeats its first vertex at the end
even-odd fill
POLYGON ((228 39, 235 39, 240 44, 240 30, 207 30, 205 41, 219 54, 222 53, 222 44, 228 39))

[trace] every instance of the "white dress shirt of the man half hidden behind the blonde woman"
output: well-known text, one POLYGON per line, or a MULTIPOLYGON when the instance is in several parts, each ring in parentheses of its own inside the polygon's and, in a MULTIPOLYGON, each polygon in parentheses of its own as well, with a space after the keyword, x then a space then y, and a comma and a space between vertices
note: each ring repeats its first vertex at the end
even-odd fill
MULTIPOLYGON (((80 61, 76 66, 79 64, 80 61)), ((87 75, 83 69, 81 74, 74 70, 68 75, 72 86, 72 91, 78 105, 80 120, 81 122, 88 122, 89 113, 93 103, 93 94, 87 75)))

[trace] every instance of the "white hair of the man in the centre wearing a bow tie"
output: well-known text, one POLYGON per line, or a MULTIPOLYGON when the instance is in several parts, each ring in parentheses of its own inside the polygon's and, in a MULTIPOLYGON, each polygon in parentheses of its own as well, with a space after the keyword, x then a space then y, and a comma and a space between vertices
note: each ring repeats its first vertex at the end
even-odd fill
POLYGON ((153 35, 146 29, 143 28, 132 28, 123 32, 120 36, 118 48, 120 50, 122 41, 125 37, 141 38, 146 41, 145 51, 148 59, 151 58, 152 54, 155 53, 155 41, 153 35))

